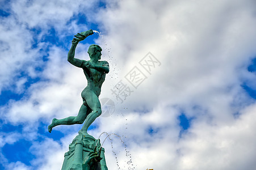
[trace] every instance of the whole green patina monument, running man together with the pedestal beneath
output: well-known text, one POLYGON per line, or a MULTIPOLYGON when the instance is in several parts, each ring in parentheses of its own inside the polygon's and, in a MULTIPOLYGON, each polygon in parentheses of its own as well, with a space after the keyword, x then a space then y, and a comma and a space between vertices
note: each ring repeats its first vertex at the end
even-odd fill
POLYGON ((51 133, 52 128, 58 125, 85 124, 79 131, 77 137, 69 145, 69 151, 65 153, 62 170, 107 170, 104 158, 104 148, 100 146, 99 139, 95 139, 87 133, 89 126, 102 113, 99 95, 102 83, 106 74, 110 71, 107 61, 99 61, 102 56, 102 48, 99 45, 90 45, 88 54, 89 61, 74 58, 75 48, 79 41, 85 40, 89 35, 93 35, 93 30, 77 33, 72 40, 72 46, 68 53, 68 61, 72 65, 83 69, 87 79, 87 86, 82 91, 83 104, 77 116, 70 116, 58 120, 53 118, 52 124, 48 126, 51 133))

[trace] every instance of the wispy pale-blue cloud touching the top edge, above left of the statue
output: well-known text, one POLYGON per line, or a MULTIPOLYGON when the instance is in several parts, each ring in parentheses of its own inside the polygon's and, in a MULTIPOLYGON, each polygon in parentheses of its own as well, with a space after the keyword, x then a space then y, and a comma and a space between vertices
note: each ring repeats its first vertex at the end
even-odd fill
POLYGON ((96 1, 13 1, 11 3, 12 11, 15 18, 20 22, 27 24, 28 27, 40 27, 48 29, 53 26, 56 31, 61 31, 66 25, 66 22, 79 14, 79 11, 89 11, 94 7, 96 1))

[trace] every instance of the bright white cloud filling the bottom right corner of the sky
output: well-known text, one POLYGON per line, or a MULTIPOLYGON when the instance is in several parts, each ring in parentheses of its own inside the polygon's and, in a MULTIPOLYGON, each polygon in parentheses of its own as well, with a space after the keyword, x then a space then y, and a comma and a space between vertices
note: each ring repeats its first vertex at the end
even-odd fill
POLYGON ((178 169, 253 169, 255 163, 255 104, 232 124, 193 124, 179 143, 178 169))

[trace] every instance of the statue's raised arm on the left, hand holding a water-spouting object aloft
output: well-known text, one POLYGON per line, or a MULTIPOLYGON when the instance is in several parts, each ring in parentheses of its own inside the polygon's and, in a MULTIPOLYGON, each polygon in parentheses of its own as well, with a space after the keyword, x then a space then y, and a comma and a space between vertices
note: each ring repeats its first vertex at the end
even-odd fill
POLYGON ((72 45, 68 53, 68 61, 72 63, 72 65, 80 68, 83 66, 83 61, 81 59, 74 58, 75 48, 77 47, 79 41, 85 40, 85 38, 89 35, 93 35, 92 29, 90 29, 89 31, 77 33, 77 35, 75 35, 75 38, 72 40, 72 45))

